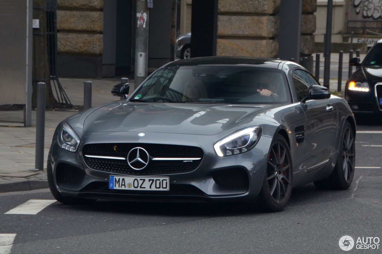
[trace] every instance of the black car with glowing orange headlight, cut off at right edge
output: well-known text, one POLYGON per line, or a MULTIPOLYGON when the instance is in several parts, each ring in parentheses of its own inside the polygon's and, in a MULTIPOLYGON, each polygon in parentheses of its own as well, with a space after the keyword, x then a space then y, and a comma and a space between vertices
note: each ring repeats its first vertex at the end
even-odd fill
POLYGON ((382 114, 382 40, 367 53, 361 63, 359 57, 350 59, 359 66, 345 88, 345 99, 354 114, 382 114))

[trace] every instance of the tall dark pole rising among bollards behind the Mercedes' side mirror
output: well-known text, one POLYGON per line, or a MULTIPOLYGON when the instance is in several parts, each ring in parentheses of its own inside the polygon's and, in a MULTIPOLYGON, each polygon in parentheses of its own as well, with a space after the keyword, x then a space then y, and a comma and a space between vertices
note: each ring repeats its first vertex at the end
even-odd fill
POLYGON ((333 0, 328 0, 326 14, 326 34, 325 34, 325 65, 324 65, 324 87, 329 88, 330 80, 330 52, 332 51, 332 17, 333 17, 333 0))

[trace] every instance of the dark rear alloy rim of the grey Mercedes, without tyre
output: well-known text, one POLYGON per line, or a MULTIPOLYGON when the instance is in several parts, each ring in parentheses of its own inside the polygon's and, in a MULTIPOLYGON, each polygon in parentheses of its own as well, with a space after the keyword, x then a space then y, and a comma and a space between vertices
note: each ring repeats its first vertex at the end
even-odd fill
POLYGON ((354 134, 346 127, 342 142, 342 169, 346 182, 350 182, 354 174, 354 134))

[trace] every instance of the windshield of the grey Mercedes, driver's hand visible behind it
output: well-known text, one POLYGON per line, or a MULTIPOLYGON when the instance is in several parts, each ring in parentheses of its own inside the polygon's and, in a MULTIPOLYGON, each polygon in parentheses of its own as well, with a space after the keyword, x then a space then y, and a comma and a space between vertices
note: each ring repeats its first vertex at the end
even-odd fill
POLYGON ((290 102, 282 71, 247 66, 168 66, 157 70, 130 101, 280 104, 290 102))

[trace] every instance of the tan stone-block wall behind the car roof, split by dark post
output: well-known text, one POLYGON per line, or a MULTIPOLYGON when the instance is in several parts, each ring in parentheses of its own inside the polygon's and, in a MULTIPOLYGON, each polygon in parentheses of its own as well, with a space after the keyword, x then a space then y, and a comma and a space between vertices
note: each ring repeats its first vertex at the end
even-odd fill
MULTIPOLYGON (((277 57, 280 1, 219 0, 216 55, 277 57)), ((301 57, 314 53, 316 10, 317 0, 303 0, 301 57)))

